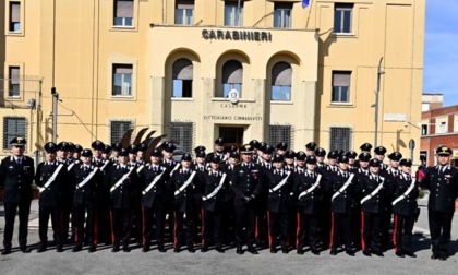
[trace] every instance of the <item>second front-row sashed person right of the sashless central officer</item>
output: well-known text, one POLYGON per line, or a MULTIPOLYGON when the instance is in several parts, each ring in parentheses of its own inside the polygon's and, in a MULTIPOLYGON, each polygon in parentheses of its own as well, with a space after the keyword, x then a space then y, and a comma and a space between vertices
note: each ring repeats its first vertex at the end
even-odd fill
POLYGON ((318 217, 321 214, 322 194, 324 190, 323 175, 316 169, 316 156, 305 158, 306 169, 294 178, 293 196, 297 198, 299 230, 298 254, 303 254, 305 242, 309 241, 311 252, 320 254, 318 250, 318 217))

